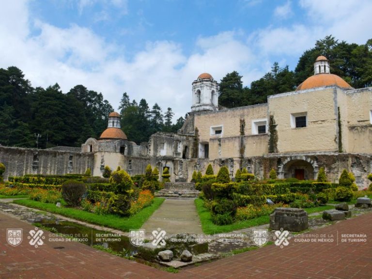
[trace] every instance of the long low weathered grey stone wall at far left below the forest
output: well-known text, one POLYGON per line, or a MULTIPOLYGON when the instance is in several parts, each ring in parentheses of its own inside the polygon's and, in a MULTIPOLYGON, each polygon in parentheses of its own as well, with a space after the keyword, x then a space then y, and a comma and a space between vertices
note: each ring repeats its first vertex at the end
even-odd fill
POLYGON ((25 174, 83 174, 93 168, 93 160, 91 153, 0 146, 4 180, 25 174))

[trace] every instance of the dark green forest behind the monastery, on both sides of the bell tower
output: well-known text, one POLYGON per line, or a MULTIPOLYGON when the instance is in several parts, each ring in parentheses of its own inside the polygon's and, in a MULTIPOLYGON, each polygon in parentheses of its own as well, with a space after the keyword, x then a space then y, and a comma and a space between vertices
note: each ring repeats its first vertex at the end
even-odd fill
MULTIPOLYGON (((331 73, 354 88, 372 86, 372 39, 365 45, 357 45, 326 36, 302 54, 294 71, 288 66, 280 68, 275 62, 271 71, 253 81, 250 87, 243 87, 238 72, 228 73, 220 82, 219 104, 227 108, 254 105, 265 103, 268 95, 293 91, 313 75, 313 63, 319 55, 328 58, 331 73)), ((137 103, 127 93, 123 93, 118 109, 124 132, 138 144, 157 131, 177 131, 187 116, 173 124, 171 108, 163 112, 155 103, 150 109, 145 99, 137 103)), ((39 148, 80 146, 89 137, 100 136, 113 110, 102 93, 83 85, 68 93, 62 93, 58 84, 46 89, 33 88, 17 67, 0 69, 1 145, 36 147, 37 139, 39 148), (36 137, 38 134, 40 138, 36 137)))

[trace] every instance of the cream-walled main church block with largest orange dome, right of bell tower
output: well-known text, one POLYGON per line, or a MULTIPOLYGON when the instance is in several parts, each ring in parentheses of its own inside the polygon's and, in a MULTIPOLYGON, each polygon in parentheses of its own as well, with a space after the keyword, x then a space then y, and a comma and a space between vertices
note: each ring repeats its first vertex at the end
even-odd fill
POLYGON ((196 111, 189 118, 180 133, 196 137, 194 169, 205 171, 208 162, 215 170, 228 166, 232 176, 247 167, 260 177, 274 168, 282 178, 316 179, 319 167, 325 167, 336 182, 348 168, 360 187, 369 184, 372 88, 354 89, 332 75, 324 56, 296 91, 270 95, 266 104, 196 111), (265 160, 267 166, 254 163, 265 160))

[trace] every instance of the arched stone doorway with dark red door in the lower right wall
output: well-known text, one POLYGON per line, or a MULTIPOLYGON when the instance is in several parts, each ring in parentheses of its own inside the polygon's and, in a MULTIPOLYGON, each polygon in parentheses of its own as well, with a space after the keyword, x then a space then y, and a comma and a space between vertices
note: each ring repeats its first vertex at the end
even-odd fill
POLYGON ((314 167, 305 160, 291 160, 283 166, 284 178, 314 179, 314 167))

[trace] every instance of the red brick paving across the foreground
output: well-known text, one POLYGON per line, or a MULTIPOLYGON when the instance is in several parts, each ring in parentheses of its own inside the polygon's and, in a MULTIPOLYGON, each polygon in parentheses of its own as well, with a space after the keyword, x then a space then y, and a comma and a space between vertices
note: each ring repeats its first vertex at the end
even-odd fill
MULTIPOLYGON (((279 248, 270 245, 178 274, 111 256, 79 243, 48 243, 31 247, 23 242, 12 247, 6 229, 29 232, 27 223, 0 214, 0 278, 269 278, 269 279, 372 279, 372 213, 313 231, 337 235, 364 233, 366 243, 295 243, 279 248), (63 249, 54 247, 64 246, 63 249)), ((26 239, 25 239, 26 238, 26 239)))

